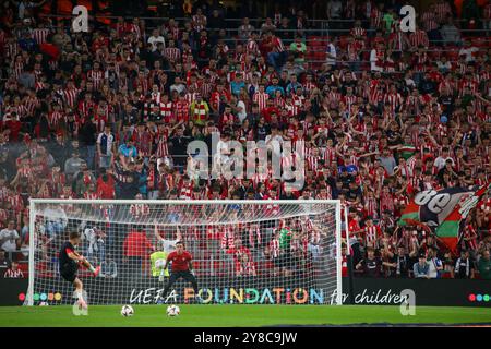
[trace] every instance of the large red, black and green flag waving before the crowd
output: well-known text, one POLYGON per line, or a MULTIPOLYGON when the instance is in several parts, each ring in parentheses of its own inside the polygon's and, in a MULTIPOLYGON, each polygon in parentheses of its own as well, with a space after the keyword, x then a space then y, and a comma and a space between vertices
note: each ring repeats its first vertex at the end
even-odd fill
POLYGON ((491 183, 487 183, 472 189, 447 188, 420 192, 404 209, 398 224, 424 224, 442 243, 455 251, 467 215, 490 189, 491 183))

